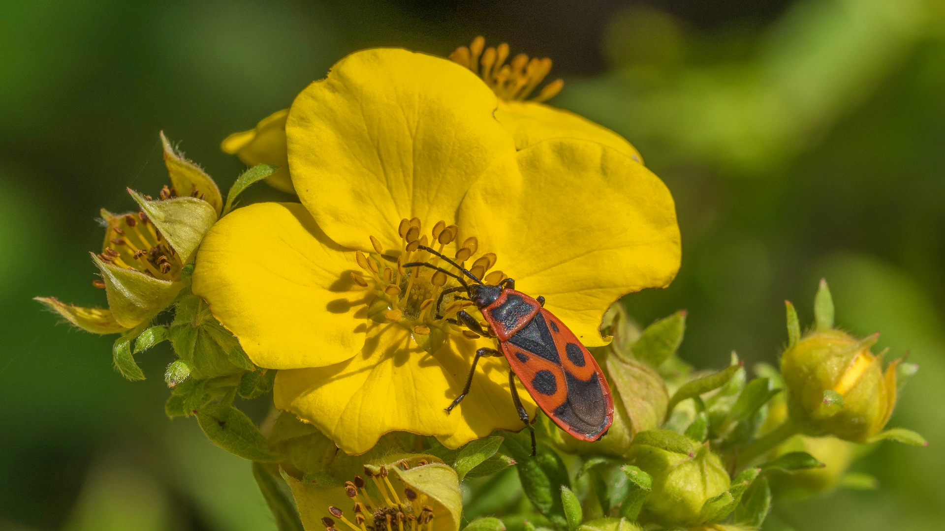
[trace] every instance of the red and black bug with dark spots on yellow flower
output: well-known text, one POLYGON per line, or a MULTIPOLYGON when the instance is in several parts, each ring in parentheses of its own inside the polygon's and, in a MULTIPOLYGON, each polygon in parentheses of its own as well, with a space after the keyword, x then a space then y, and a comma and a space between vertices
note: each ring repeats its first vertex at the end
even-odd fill
POLYGON ((437 314, 446 295, 464 291, 469 299, 454 298, 472 301, 494 334, 483 330, 479 322, 465 310, 460 310, 456 319, 447 320, 454 324, 462 323, 476 334, 493 336, 499 343, 499 350, 482 348, 476 351, 463 392, 446 408, 446 412, 451 412, 469 393, 479 358, 505 355, 511 367, 508 385, 512 401, 519 411, 519 418, 531 433, 533 455, 535 428, 529 422, 528 413, 515 389, 515 376, 519 377, 541 410, 555 420, 562 430, 581 440, 594 441, 603 437, 613 420, 610 387, 591 352, 558 317, 544 309, 544 297, 532 299, 515 291, 515 281, 512 279, 506 279, 498 285, 485 284, 432 248, 420 248, 439 256, 475 281, 473 284, 467 283, 452 271, 425 262, 404 264, 404 267, 425 266, 436 269, 462 284, 440 293, 437 314))

